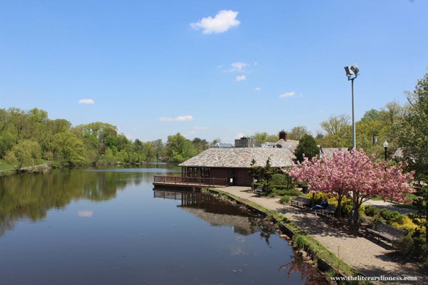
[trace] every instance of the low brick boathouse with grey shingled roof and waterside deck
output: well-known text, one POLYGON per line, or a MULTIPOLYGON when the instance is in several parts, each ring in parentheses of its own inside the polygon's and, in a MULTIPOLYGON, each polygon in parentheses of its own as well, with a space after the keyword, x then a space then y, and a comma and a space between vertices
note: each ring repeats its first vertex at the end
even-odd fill
POLYGON ((280 140, 260 146, 253 138, 235 140, 235 147, 210 147, 208 150, 180 163, 181 175, 155 175, 153 185, 165 187, 248 186, 253 183, 251 163, 264 167, 270 159, 272 167, 294 165, 294 150, 298 141, 287 140, 280 132, 280 140))

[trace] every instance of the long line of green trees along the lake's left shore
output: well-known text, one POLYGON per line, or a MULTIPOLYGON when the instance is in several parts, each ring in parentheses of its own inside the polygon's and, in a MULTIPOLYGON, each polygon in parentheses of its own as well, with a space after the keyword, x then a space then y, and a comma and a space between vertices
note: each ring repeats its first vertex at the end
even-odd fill
POLYGON ((51 120, 45 110, 0 109, 0 160, 17 168, 50 162, 53 167, 182 162, 209 147, 206 140, 188 140, 180 133, 143 142, 129 140, 109 123, 72 126, 51 120))

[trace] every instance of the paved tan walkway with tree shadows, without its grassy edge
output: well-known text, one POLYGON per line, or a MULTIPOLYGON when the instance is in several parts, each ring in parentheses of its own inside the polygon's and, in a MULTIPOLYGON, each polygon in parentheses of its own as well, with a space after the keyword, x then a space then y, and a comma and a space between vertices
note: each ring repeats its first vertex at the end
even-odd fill
MULTIPOLYGON (((243 199, 248 199, 263 207, 276 210, 290 219, 301 229, 323 244, 330 252, 365 276, 417 276, 417 281, 397 284, 428 284, 428 276, 421 274, 417 266, 403 261, 394 251, 385 249, 365 237, 358 237, 332 227, 327 218, 315 217, 312 212, 297 209, 289 204, 280 204, 279 198, 260 197, 253 194, 248 187, 222 187, 220 191, 229 192, 243 199)), ((393 284, 394 282, 388 282, 393 284)))

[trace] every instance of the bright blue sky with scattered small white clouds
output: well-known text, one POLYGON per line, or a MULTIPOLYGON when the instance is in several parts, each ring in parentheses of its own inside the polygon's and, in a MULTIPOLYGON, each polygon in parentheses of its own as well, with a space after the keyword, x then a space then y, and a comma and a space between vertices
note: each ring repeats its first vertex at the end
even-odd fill
POLYGON ((357 120, 405 102, 427 72, 427 11, 422 0, 3 0, 0 108, 141 140, 315 133, 351 115, 345 65, 360 66, 357 120))

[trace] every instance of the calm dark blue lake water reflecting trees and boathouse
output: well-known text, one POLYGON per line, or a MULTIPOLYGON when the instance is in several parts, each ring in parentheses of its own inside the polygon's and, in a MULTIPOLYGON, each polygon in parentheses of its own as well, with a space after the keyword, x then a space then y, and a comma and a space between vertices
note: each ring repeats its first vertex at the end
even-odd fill
POLYGON ((169 165, 0 177, 0 284, 320 284, 270 224, 153 190, 169 165))

